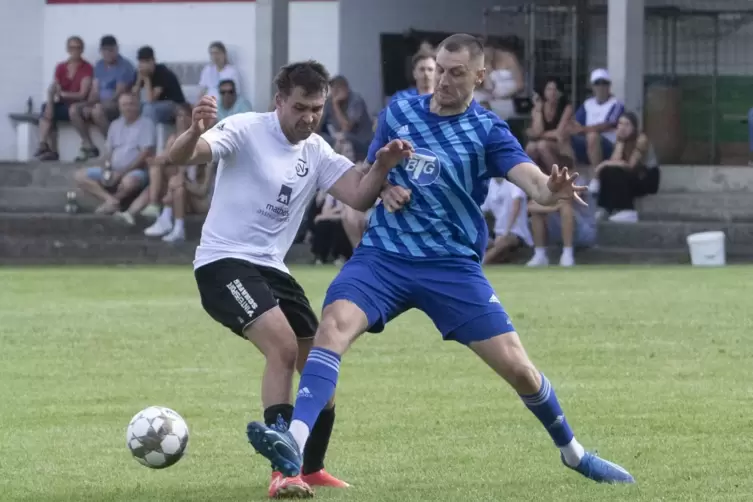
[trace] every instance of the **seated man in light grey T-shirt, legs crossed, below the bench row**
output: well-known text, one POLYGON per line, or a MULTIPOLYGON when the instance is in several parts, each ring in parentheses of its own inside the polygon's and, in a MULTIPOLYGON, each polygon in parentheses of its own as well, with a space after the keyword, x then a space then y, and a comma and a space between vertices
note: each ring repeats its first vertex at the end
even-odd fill
POLYGON ((154 155, 157 133, 154 122, 139 114, 139 100, 133 94, 118 99, 120 118, 107 131, 103 167, 76 171, 78 187, 102 204, 97 214, 113 214, 121 204, 149 182, 146 160, 154 155))

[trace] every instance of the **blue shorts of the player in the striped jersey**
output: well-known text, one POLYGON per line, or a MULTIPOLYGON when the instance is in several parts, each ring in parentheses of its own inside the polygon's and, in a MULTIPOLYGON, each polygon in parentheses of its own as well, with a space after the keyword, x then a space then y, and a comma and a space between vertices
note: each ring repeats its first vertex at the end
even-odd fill
POLYGON ((415 259, 359 246, 327 290, 324 306, 348 300, 366 314, 368 331, 412 308, 445 340, 469 344, 515 331, 481 264, 471 258, 415 259))

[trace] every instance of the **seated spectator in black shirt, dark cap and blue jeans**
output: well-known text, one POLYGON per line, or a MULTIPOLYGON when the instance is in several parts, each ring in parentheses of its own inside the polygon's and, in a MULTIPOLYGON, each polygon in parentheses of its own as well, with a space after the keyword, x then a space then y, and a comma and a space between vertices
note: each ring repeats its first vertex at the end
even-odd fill
POLYGON ((137 58, 139 68, 133 93, 141 94, 141 114, 153 122, 172 124, 175 105, 186 102, 178 77, 167 66, 157 64, 154 49, 149 46, 139 49, 137 58))

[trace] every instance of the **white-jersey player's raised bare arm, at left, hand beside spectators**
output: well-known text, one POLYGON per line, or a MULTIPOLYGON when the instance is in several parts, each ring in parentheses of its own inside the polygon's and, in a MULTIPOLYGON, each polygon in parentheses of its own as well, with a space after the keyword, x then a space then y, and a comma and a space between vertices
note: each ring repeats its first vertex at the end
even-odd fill
POLYGON ((191 166, 212 162, 212 149, 201 138, 207 124, 217 120, 217 102, 212 96, 203 96, 191 112, 191 127, 178 136, 170 147, 168 158, 173 165, 191 166))

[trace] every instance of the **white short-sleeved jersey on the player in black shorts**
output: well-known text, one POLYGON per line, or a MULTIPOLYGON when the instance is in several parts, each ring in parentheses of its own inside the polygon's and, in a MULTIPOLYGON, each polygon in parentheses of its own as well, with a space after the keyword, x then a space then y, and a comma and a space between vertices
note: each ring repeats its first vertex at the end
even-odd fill
POLYGON ((288 273, 283 260, 316 191, 353 162, 317 134, 291 144, 276 112, 230 116, 202 138, 219 166, 194 269, 237 258, 288 273))

